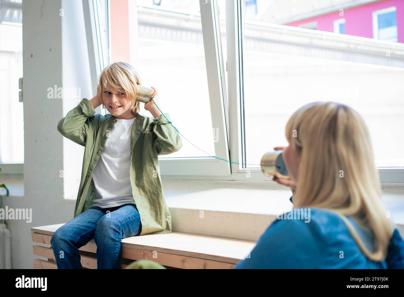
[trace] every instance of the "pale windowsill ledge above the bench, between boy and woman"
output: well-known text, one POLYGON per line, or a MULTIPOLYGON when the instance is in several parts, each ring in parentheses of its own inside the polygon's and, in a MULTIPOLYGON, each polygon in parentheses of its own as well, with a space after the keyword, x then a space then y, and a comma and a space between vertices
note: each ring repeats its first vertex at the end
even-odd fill
MULTIPOLYGON (((174 232, 257 241, 276 215, 292 208, 276 182, 162 180, 174 232)), ((404 184, 382 184, 382 201, 404 234, 404 184)))

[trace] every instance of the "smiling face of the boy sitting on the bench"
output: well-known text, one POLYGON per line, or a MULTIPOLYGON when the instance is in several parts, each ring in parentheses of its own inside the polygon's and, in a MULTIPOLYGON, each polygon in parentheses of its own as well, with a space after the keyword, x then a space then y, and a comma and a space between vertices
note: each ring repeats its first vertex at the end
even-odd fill
POLYGON ((108 84, 102 90, 102 100, 105 108, 116 119, 133 119, 135 117, 130 110, 132 102, 130 102, 128 96, 108 84))

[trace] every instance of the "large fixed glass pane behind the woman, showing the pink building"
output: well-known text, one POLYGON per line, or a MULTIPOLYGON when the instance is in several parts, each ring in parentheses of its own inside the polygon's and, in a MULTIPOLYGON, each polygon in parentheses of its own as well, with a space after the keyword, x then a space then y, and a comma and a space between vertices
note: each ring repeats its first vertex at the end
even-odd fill
MULTIPOLYGON (((243 162, 259 164, 266 151, 287 145, 284 129, 296 109, 330 100, 349 105, 364 117, 377 166, 404 166, 404 34, 398 36, 398 43, 382 43, 373 39, 372 24, 373 11, 391 5, 404 10, 404 5, 402 1, 389 1, 389 6, 386 1, 366 5, 357 1, 352 6, 351 2, 344 6, 346 1, 310 1, 313 5, 258 1, 257 15, 244 15, 247 157, 243 162), (345 23, 339 31, 345 35, 332 33, 334 21, 341 18, 345 23), (307 24, 316 24, 317 31, 302 29, 307 24), (271 129, 262 135, 257 127, 271 129)), ((392 19, 386 16, 383 26, 390 26, 392 19)), ((404 32, 404 27, 398 32, 404 32)))

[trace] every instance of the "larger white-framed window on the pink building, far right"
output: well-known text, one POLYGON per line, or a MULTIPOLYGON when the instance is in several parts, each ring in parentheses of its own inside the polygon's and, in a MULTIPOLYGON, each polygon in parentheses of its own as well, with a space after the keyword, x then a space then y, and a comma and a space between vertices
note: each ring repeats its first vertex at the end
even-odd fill
POLYGON ((396 7, 373 12, 373 38, 386 41, 398 41, 396 7))

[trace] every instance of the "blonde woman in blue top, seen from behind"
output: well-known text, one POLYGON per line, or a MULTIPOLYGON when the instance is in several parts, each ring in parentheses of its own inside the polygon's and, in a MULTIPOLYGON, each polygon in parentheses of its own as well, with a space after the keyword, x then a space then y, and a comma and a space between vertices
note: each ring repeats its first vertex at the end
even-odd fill
POLYGON ((274 180, 291 187, 293 209, 235 268, 404 268, 404 243, 381 203, 362 117, 346 105, 314 102, 293 113, 285 133, 290 180, 274 180))

